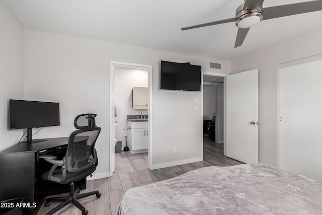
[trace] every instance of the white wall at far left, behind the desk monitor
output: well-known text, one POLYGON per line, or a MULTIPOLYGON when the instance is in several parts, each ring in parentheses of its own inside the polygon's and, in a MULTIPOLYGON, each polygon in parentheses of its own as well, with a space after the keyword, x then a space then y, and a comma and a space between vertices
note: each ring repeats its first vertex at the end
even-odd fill
POLYGON ((24 99, 24 27, 0 2, 0 151, 14 146, 22 129, 10 130, 9 99, 24 99))

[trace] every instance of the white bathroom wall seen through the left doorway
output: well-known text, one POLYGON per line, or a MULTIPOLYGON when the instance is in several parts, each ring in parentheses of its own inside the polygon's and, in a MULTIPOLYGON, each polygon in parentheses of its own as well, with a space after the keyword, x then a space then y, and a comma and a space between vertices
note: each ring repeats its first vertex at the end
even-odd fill
POLYGON ((134 69, 126 67, 115 67, 114 86, 115 86, 115 106, 117 116, 117 126, 115 128, 115 137, 117 141, 122 141, 122 150, 125 147, 125 128, 128 126, 127 115, 147 115, 147 110, 134 110, 132 107, 132 89, 133 87, 147 86, 147 70, 134 69))

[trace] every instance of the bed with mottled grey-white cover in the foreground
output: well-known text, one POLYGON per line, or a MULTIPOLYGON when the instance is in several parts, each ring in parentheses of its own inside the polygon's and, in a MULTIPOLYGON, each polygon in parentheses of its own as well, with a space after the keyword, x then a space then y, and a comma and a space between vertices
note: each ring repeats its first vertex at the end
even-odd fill
POLYGON ((128 190, 118 214, 322 214, 322 184, 266 165, 204 167, 128 190))

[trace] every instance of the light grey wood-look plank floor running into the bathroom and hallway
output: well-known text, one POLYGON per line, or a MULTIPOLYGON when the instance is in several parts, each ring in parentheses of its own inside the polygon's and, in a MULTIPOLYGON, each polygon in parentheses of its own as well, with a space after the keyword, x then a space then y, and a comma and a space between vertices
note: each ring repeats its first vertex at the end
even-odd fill
MULTIPOLYGON (((99 190, 102 193, 100 198, 96 198, 94 195, 79 200, 89 211, 89 215, 116 214, 123 194, 133 187, 170 179, 201 167, 242 164, 239 161, 223 156, 223 144, 215 144, 207 135, 204 136, 204 160, 201 162, 149 170, 147 160, 147 153, 135 155, 123 151, 116 153, 113 176, 90 180, 87 182, 86 190, 81 190, 81 193, 93 190, 99 190)), ((66 195, 68 193, 56 196, 66 195)), ((43 203, 37 214, 45 214, 58 204, 59 202, 51 202, 50 206, 45 207, 43 203)), ((82 214, 82 212, 72 204, 69 204, 55 214, 76 215, 82 214)))

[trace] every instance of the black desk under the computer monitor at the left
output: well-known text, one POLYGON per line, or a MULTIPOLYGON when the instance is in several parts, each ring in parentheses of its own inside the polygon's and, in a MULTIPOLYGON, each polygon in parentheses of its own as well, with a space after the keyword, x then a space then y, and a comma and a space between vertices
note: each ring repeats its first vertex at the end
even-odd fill
MULTIPOLYGON (((0 201, 24 196, 24 202, 32 205, 39 154, 63 153, 67 144, 68 137, 47 138, 34 144, 20 143, 0 152, 0 201)), ((24 208, 24 214, 34 212, 35 208, 24 208)))

